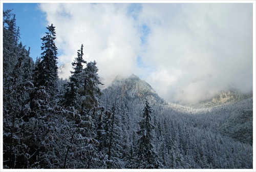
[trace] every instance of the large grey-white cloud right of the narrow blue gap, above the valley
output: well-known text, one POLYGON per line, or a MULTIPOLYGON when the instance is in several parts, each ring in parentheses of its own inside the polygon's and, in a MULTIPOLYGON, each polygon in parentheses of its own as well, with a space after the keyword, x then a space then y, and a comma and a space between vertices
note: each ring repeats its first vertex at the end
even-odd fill
MULTIPOLYGON (((152 11, 152 6, 144 6, 143 12, 152 11)), ((159 19, 151 23, 149 48, 143 56, 164 69, 165 79, 176 78, 169 79, 169 94, 163 98, 195 102, 227 87, 252 91, 251 4, 184 4, 175 13, 166 8, 156 8, 159 19)), ((148 76, 159 93, 163 90, 159 83, 168 83, 160 76, 148 76)))

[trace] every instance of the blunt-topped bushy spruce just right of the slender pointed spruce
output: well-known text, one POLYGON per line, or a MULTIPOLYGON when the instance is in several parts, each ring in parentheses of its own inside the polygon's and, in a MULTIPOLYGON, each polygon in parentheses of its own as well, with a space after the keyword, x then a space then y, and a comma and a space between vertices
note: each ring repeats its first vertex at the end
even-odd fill
MULTIPOLYGON (((77 68, 78 70, 79 68, 77 68)), ((87 67, 80 72, 78 80, 82 83, 78 90, 79 108, 81 119, 87 125, 85 126, 87 144, 84 146, 85 154, 83 155, 83 168, 101 168, 100 159, 102 154, 98 150, 98 120, 102 112, 100 107, 100 96, 102 94, 98 84, 102 84, 98 77, 98 68, 96 62, 87 63, 87 67)))

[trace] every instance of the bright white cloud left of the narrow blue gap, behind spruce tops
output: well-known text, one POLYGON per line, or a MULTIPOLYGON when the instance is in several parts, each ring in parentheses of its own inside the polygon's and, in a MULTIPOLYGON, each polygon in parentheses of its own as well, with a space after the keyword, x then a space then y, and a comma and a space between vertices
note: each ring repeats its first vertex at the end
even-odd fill
MULTIPOLYGON (((99 75, 130 75, 135 70, 140 36, 127 4, 41 4, 56 27, 59 63, 71 63, 81 44, 84 59, 96 60, 99 75)), ((70 69, 71 70, 71 69, 70 69)), ((69 75, 67 70, 66 76, 69 75)))

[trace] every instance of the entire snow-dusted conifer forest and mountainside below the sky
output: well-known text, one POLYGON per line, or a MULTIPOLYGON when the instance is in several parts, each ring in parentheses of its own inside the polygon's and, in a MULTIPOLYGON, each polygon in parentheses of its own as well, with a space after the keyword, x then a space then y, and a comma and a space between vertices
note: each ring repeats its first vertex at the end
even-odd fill
POLYGON ((58 78, 55 27, 36 61, 3 13, 3 168, 252 168, 252 95, 200 108, 167 103, 139 77, 105 90, 79 45, 58 78))

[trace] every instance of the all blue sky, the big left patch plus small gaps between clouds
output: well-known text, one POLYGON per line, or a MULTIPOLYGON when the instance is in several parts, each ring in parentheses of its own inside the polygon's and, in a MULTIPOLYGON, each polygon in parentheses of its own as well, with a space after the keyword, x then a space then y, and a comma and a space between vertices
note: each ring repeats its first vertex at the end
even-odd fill
MULTIPOLYGON (((42 12, 39 8, 38 3, 4 3, 4 10, 11 9, 12 13, 16 16, 16 25, 20 27, 20 37, 23 45, 26 47, 31 47, 30 56, 36 60, 36 57, 40 57, 41 53, 41 37, 44 36, 47 26, 46 14, 42 12)), ((137 20, 138 14, 142 9, 141 4, 131 4, 127 13, 135 20, 137 20)), ((63 11, 62 16, 69 17, 70 15, 63 11)), ((141 44, 146 44, 146 39, 148 34, 150 34, 150 28, 143 24, 140 26, 140 31, 142 35, 140 37, 141 44)), ((59 54, 61 51, 58 52, 59 54)), ((143 61, 141 57, 138 56, 137 60, 138 66, 143 67, 143 61)), ((62 65, 62 64, 60 64, 62 65)))

